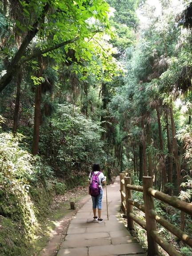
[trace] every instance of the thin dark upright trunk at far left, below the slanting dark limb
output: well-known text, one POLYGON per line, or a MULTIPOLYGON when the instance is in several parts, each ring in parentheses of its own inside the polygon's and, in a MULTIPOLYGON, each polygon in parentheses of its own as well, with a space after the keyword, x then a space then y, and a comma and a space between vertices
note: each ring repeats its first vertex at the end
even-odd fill
POLYGON ((14 111, 14 118, 13 118, 13 134, 17 131, 18 126, 18 117, 19 117, 19 108, 20 108, 20 85, 22 80, 22 72, 19 70, 17 74, 17 92, 16 92, 16 103, 15 103, 15 111, 14 111))

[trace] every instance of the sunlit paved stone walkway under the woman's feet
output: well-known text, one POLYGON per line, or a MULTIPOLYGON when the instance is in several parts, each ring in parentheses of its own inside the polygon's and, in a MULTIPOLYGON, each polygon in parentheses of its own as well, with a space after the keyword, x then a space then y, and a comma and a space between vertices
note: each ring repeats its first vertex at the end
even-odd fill
POLYGON ((102 223, 93 222, 92 200, 84 204, 69 225, 67 236, 57 256, 144 256, 144 251, 118 218, 120 211, 120 180, 104 189, 102 223))

